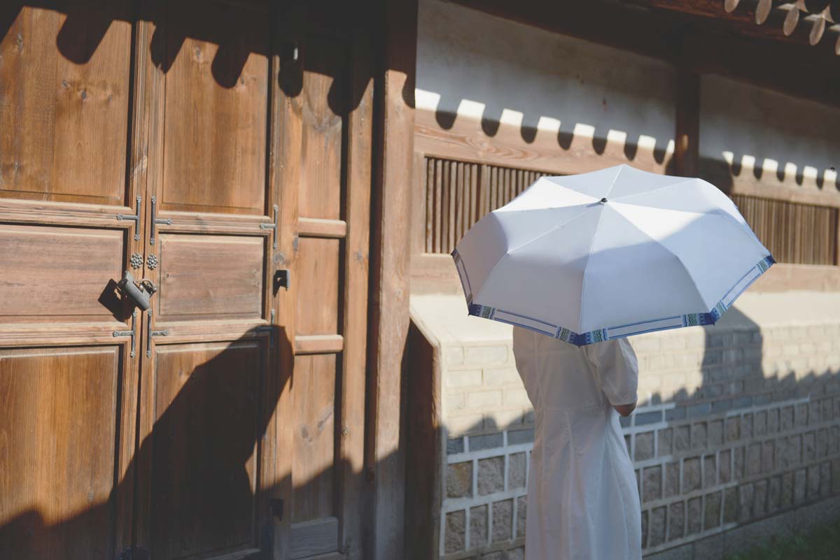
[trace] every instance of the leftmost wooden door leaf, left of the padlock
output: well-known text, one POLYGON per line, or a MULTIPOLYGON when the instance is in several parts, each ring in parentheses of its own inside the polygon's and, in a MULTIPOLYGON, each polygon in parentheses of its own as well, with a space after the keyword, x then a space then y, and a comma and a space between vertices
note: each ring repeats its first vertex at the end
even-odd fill
POLYGON ((140 318, 114 290, 139 251, 128 9, 80 29, 60 2, 0 8, 0 558, 131 543, 140 318))

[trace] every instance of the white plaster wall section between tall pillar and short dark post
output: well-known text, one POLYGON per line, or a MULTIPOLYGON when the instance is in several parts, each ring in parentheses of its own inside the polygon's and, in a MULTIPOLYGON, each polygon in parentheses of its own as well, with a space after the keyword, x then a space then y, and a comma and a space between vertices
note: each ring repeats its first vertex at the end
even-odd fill
POLYGON ((664 149, 674 136, 674 96, 675 70, 659 60, 420 2, 420 108, 534 128, 559 121, 561 131, 596 137, 625 132, 627 142, 655 138, 664 149))

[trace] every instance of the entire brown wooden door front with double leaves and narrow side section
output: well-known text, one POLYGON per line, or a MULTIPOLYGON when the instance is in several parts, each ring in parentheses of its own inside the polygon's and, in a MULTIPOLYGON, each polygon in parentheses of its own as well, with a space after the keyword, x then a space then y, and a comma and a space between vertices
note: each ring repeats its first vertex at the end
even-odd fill
POLYGON ((360 18, 79 4, 0 11, 0 557, 360 557, 360 18))

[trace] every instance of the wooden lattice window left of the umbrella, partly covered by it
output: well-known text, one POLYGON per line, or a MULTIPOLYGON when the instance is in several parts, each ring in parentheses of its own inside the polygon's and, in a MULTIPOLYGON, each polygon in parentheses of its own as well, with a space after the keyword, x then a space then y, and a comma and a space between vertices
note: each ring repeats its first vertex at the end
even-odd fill
POLYGON ((506 205, 546 173, 426 158, 426 252, 449 253, 481 216, 506 205))

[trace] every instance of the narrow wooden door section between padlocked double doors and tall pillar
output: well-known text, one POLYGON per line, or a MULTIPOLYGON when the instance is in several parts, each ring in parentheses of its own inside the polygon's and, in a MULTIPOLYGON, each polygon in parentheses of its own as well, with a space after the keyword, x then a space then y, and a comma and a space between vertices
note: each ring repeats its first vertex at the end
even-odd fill
POLYGON ((277 259, 292 274, 279 307, 292 375, 278 426, 291 452, 280 461, 291 559, 362 555, 373 83, 365 9, 344 4, 291 9, 280 31, 277 259))

